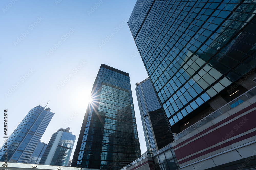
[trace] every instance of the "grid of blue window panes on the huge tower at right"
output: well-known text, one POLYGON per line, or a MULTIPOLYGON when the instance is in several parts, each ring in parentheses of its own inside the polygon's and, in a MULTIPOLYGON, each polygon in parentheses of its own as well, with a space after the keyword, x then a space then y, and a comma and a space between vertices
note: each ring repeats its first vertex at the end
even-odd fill
MULTIPOLYGON (((231 72, 227 75, 228 78, 223 77, 218 83, 215 83, 223 73, 227 73, 239 64, 240 60, 238 58, 235 61, 236 59, 233 60, 228 56, 220 56, 217 61, 216 59, 211 59, 211 57, 219 53, 219 51, 228 55, 233 49, 228 52, 226 49, 235 48, 234 42, 231 40, 238 38, 238 36, 234 37, 234 35, 238 33, 241 27, 249 25, 248 22, 251 22, 249 17, 253 15, 252 11, 254 11, 255 4, 231 4, 230 7, 229 4, 225 3, 188 2, 190 5, 195 5, 190 7, 183 4, 184 2, 178 2, 180 4, 171 7, 171 5, 174 5, 171 1, 166 1, 165 3, 157 3, 158 6, 153 5, 140 32, 138 34, 135 33, 137 37, 133 33, 134 30, 131 30, 139 51, 143 54, 142 59, 146 64, 146 68, 151 75, 153 83, 155 83, 154 86, 159 92, 158 95, 164 104, 167 116, 170 117, 177 113, 170 120, 170 123, 174 124, 174 122, 182 119, 183 116, 231 84, 230 80, 234 81, 238 78, 239 74, 231 72), (238 6, 237 10, 239 12, 233 12, 232 15, 229 15, 230 11, 221 11, 223 8, 232 10, 235 5, 238 6), (167 9, 167 6, 169 9, 167 9), (182 8, 182 10, 178 14, 176 13, 174 17, 175 12, 177 12, 176 8, 182 8), (215 10, 215 8, 219 10, 215 10), (164 12, 160 13, 160 10, 164 12), (244 12, 248 12, 248 14, 244 12), (229 19, 224 20, 223 17, 225 19, 229 17, 229 19), (208 23, 205 23, 205 21, 208 23), (222 27, 219 27, 219 25, 222 27), (220 32, 222 34, 218 34, 220 32), (231 43, 228 44, 229 41, 231 43), (224 48, 225 44, 226 48, 224 48), (193 56, 189 55, 186 58, 186 55, 191 51, 197 53, 203 60, 198 56, 197 60, 188 60, 193 56), (170 55, 168 56, 167 53, 170 55), (164 59, 165 56, 168 57, 164 59), (209 63, 212 67, 216 66, 215 68, 218 68, 218 71, 214 68, 212 70, 204 69, 209 67, 206 65, 206 61, 210 59, 209 63), (222 64, 221 67, 220 64, 222 64), (202 72, 202 74, 196 74, 197 72, 202 72), (190 79, 190 76, 193 76, 193 78, 190 79), (194 83, 189 84, 189 81, 193 80, 194 83), (195 84, 195 82, 197 83, 195 84), (186 89, 183 87, 184 84, 187 84, 190 88, 186 89), (195 101, 191 102, 193 98, 195 101)), ((248 31, 251 32, 251 30, 248 31)), ((251 34, 246 34, 243 42, 248 43, 247 47, 239 49, 241 53, 237 53, 241 57, 248 53, 252 49, 252 45, 255 44, 255 40, 252 41, 253 35, 249 38, 251 34)), ((237 40, 236 43, 242 44, 243 42, 237 40)), ((244 73, 242 68, 248 70, 242 64, 240 68, 240 70, 236 69, 239 70, 239 73, 244 73)))

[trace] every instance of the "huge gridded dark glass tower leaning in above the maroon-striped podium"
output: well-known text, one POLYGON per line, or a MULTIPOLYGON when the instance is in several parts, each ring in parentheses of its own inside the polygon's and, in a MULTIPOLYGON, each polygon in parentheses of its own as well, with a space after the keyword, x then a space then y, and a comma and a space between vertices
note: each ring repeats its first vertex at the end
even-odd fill
POLYGON ((136 2, 128 25, 172 132, 248 90, 229 89, 255 67, 255 9, 253 0, 136 2))

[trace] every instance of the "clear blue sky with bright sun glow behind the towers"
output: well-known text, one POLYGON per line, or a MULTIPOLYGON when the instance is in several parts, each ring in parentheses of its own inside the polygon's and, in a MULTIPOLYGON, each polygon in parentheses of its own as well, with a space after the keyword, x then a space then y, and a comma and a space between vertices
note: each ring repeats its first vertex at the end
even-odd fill
POLYGON ((1 0, 0 99, 2 120, 8 109, 8 135, 30 109, 50 100, 47 107, 55 115, 41 141, 48 143, 61 127, 70 127, 78 138, 94 80, 104 63, 130 75, 141 152, 146 151, 135 83, 148 75, 127 25, 135 3, 1 0), (91 10, 95 5, 97 9, 91 10))

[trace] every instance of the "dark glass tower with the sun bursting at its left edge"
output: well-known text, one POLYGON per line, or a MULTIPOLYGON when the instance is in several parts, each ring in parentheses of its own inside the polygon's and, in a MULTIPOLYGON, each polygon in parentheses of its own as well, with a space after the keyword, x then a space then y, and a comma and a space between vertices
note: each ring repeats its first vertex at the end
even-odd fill
POLYGON ((102 64, 91 98, 71 166, 121 169, 141 155, 129 74, 102 64))

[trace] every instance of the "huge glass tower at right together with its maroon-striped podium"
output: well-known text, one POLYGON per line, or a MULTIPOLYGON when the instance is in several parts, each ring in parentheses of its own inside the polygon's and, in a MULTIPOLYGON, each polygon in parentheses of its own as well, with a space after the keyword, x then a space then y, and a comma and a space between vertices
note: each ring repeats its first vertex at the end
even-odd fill
POLYGON ((256 153, 255 9, 253 0, 136 2, 128 25, 177 133, 153 154, 161 169, 256 167, 247 159, 256 153))

